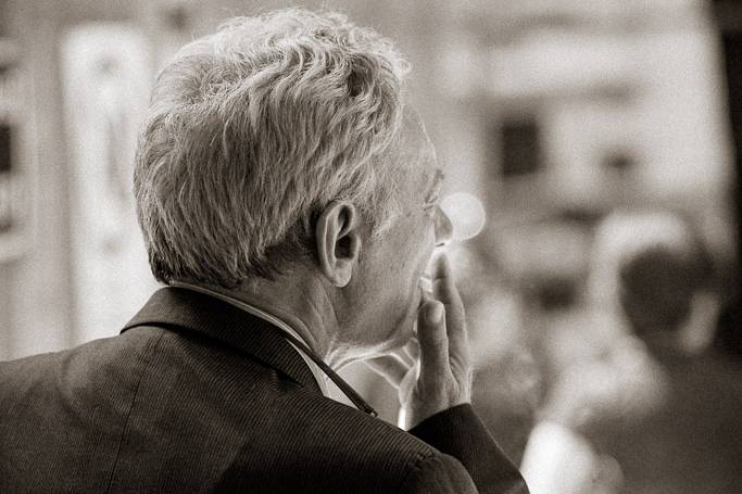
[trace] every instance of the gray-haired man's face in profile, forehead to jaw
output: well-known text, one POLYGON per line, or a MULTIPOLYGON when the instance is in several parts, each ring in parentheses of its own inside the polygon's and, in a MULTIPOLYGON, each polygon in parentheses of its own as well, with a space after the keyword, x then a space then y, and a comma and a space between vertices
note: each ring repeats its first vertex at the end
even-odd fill
POLYGON ((422 300, 420 278, 437 245, 451 237, 440 210, 442 174, 419 117, 407 111, 399 151, 400 214, 362 249, 352 301, 359 311, 353 337, 374 354, 404 345, 413 335, 422 300))

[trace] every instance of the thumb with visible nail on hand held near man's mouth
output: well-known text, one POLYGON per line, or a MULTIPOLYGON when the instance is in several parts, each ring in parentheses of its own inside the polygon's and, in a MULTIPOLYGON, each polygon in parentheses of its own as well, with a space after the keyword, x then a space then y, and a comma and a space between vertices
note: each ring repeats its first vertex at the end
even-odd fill
POLYGON ((449 365, 449 339, 445 334, 445 308, 438 301, 425 302, 417 315, 420 346, 420 380, 437 380, 449 365))

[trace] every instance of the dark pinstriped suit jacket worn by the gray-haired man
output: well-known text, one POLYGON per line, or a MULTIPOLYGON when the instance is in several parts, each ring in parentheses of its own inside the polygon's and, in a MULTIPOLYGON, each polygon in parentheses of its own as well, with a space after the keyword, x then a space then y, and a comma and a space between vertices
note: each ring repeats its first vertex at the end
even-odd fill
POLYGON ((115 338, 0 363, 0 492, 527 492, 462 405, 402 431, 268 322, 164 288, 115 338))

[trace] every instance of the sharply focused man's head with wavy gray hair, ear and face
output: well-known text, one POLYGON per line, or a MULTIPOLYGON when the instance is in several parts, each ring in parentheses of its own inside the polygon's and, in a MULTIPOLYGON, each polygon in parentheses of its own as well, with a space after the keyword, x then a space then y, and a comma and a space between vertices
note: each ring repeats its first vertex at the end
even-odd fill
POLYGON ((341 344, 406 341, 451 233, 406 71, 374 31, 303 10, 185 47, 158 78, 135 172, 155 277, 236 289, 309 267, 341 344))

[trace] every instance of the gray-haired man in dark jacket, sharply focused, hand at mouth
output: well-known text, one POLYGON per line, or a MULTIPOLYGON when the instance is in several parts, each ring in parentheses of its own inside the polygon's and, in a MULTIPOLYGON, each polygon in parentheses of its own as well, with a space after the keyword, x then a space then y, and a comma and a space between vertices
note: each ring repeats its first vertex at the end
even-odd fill
POLYGON ((167 287, 118 337, 0 365, 0 492, 527 492, 468 404, 445 259, 420 289, 451 224, 405 69, 301 10, 178 53, 135 172, 167 287), (408 431, 331 370, 359 359, 408 431))

